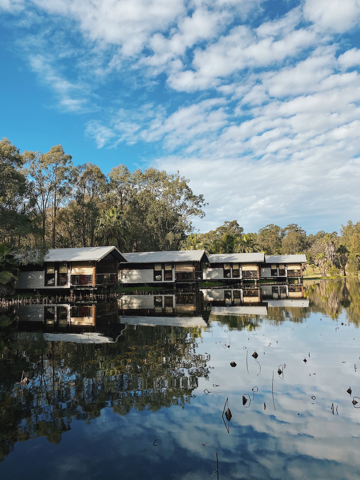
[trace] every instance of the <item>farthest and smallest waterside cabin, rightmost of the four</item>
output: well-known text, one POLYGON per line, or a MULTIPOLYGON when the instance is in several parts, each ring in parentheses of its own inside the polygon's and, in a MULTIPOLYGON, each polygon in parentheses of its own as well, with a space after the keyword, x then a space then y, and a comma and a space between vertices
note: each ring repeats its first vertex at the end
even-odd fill
POLYGON ((306 255, 265 255, 265 264, 261 266, 262 278, 300 278, 302 264, 306 263, 306 255))

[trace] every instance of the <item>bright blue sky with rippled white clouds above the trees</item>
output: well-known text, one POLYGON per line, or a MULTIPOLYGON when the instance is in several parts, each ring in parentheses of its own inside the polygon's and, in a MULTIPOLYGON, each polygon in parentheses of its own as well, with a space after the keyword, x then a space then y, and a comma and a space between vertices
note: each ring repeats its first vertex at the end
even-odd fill
POLYGON ((0 135, 180 170, 207 231, 359 215, 360 0, 0 0, 0 135))

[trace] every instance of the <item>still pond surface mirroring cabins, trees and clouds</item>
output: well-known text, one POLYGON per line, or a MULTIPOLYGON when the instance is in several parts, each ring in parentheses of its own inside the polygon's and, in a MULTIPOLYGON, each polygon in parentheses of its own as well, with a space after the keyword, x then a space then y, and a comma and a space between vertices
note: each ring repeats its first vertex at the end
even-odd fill
POLYGON ((358 479, 360 284, 281 288, 20 309, 0 478, 358 479))

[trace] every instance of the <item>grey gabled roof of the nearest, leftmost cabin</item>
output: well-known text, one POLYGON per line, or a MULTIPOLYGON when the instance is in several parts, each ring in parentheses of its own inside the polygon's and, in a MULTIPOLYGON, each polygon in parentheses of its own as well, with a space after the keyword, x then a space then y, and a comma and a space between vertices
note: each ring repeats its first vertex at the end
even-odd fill
POLYGON ((84 247, 50 249, 45 262, 81 262, 101 260, 111 253, 119 262, 126 262, 124 255, 116 247, 84 247))

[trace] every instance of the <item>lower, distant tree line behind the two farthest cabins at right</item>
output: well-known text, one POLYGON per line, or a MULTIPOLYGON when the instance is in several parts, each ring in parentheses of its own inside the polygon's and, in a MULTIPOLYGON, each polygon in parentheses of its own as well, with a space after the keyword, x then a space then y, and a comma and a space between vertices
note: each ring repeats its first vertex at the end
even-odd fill
POLYGON ((237 220, 225 221, 223 225, 207 233, 191 233, 180 241, 181 250, 204 249, 208 253, 265 252, 266 255, 305 253, 308 265, 317 266, 336 274, 342 269, 351 275, 360 272, 360 222, 351 220, 336 231, 318 231, 307 235, 297 224, 287 227, 269 224, 255 233, 245 233, 237 220))

